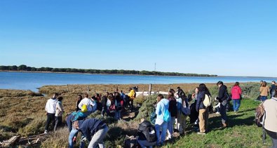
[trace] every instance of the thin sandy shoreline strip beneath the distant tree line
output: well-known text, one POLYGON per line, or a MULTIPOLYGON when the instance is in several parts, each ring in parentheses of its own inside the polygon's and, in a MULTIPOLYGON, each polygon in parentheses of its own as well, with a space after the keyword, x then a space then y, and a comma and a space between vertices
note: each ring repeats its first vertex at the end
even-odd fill
MULTIPOLYGON (((12 71, 0 70, 0 72, 19 72, 19 73, 42 73, 42 74, 91 74, 81 72, 33 72, 33 71, 12 71)), ((94 74, 100 75, 100 74, 94 74)), ((174 75, 147 75, 147 74, 104 74, 103 75, 119 75, 119 76, 174 76, 174 75)), ((221 77, 221 76, 177 76, 177 77, 221 77)))

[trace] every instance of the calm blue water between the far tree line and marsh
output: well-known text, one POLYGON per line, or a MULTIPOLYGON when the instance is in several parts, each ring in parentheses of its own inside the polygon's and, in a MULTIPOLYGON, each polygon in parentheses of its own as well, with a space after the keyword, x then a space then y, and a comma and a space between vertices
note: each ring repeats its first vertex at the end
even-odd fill
POLYGON ((33 90, 46 85, 65 84, 130 84, 130 83, 217 83, 226 82, 259 82, 272 81, 277 78, 246 77, 246 76, 135 76, 108 74, 54 74, 54 73, 26 73, 0 72, 1 89, 33 90))

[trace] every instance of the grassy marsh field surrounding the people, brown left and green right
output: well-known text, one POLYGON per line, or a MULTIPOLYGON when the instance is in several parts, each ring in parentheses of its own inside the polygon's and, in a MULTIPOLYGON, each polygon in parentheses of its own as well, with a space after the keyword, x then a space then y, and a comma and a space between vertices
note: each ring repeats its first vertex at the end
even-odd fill
MULTIPOLYGON (((231 83, 227 84, 230 88, 231 83)), ((116 88, 127 92, 128 88, 134 85, 89 85, 90 94, 95 92, 103 93, 104 90, 110 92, 116 88)), ((148 85, 135 85, 139 89, 147 90, 148 85)), ((177 88, 181 86, 187 94, 198 84, 168 84, 154 85, 154 91, 167 91, 168 88, 177 88)), ((217 95, 215 84, 207 84, 212 97, 217 95)), ((210 121, 210 132, 207 135, 197 135, 187 127, 187 135, 178 137, 168 142, 164 147, 269 147, 271 141, 269 137, 266 144, 262 144, 262 129, 257 128, 253 123, 255 107, 259 102, 255 98, 259 95, 259 83, 242 83, 244 97, 248 98, 242 101, 241 110, 238 114, 229 112, 229 128, 221 129, 219 116, 212 114, 210 121)), ((63 97, 65 114, 74 111, 76 96, 86 93, 86 85, 67 86, 43 86, 40 93, 51 95, 53 92, 60 93, 63 97)), ((39 93, 24 90, 0 90, 0 141, 7 140, 13 135, 36 135, 43 133, 43 127, 46 122, 46 113, 44 106, 48 97, 41 96, 39 93)), ((138 112, 135 118, 127 121, 114 121, 111 118, 105 119, 109 124, 109 133, 106 138, 107 147, 123 146, 126 135, 135 135, 138 126, 138 120, 142 117, 149 119, 149 113, 153 109, 153 103, 156 97, 138 97, 136 103, 142 104, 137 107, 138 112)), ((99 113, 92 115, 99 117, 99 113)), ((65 117, 65 116, 64 116, 65 117)), ((46 141, 36 145, 36 147, 67 147, 67 137, 69 133, 67 128, 62 128, 56 133, 48 135, 46 141)))

